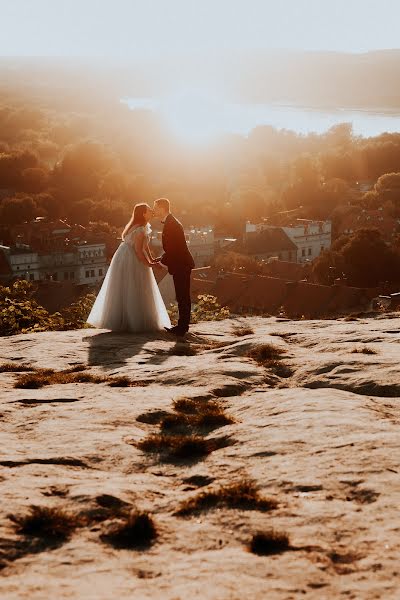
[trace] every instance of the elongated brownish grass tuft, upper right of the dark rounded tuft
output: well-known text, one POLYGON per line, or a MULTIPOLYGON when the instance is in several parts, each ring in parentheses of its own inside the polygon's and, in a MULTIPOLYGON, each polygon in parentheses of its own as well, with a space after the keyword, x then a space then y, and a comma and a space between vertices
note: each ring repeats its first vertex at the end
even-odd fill
POLYGON ((244 480, 204 491, 181 504, 176 515, 184 517, 220 506, 241 510, 269 511, 278 503, 273 498, 261 496, 252 481, 244 480))

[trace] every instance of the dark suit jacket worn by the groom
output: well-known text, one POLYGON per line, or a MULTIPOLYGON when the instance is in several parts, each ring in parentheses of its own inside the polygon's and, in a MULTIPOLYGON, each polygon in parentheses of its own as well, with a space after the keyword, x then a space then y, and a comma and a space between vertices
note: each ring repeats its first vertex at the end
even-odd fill
POLYGON ((163 265, 168 267, 171 275, 194 268, 193 256, 187 247, 185 232, 182 224, 169 214, 165 219, 162 232, 164 254, 161 257, 163 265))

